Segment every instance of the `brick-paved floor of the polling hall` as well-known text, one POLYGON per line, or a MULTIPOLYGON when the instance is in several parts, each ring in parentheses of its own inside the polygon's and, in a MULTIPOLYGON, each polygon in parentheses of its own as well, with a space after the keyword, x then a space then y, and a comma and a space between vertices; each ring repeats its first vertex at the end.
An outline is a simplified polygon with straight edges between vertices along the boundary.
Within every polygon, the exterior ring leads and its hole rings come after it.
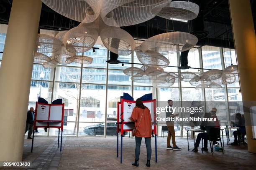
MULTIPOLYGON (((252 170, 255 169, 256 154, 248 153, 247 146, 227 146, 224 155, 215 151, 193 153, 187 150, 187 138, 176 137, 177 145, 181 151, 166 150, 166 138, 159 137, 158 162, 155 163, 155 143, 151 140, 152 160, 151 169, 157 170, 252 170)), ((119 140, 120 142, 120 140, 119 140)), ((117 158, 116 138, 102 137, 64 137, 63 151, 57 149, 57 138, 36 137, 33 153, 31 140, 25 139, 23 161, 31 162, 27 169, 33 170, 131 170, 148 169, 146 167, 146 146, 141 144, 139 167, 133 167, 135 139, 123 138, 123 163, 117 158)), ((189 140, 193 147, 193 140, 189 140)), ((208 147, 210 150, 210 146, 208 147)), ((119 153, 120 156, 120 153, 119 153)), ((7 168, 5 168, 7 169, 7 168)), ((24 168, 8 168, 24 169, 24 168)))

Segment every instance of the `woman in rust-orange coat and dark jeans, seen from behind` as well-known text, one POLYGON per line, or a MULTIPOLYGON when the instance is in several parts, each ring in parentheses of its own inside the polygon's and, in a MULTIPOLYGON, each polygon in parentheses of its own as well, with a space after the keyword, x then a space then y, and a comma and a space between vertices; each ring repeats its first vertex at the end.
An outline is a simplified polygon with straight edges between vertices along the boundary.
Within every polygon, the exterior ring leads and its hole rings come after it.
POLYGON ((141 140, 145 138, 147 148, 147 163, 146 166, 150 167, 151 159, 151 114, 148 107, 143 105, 140 98, 136 100, 136 106, 133 109, 130 120, 135 123, 135 130, 133 135, 135 136, 136 148, 135 148, 135 162, 133 166, 138 167, 138 160, 141 152, 141 140))

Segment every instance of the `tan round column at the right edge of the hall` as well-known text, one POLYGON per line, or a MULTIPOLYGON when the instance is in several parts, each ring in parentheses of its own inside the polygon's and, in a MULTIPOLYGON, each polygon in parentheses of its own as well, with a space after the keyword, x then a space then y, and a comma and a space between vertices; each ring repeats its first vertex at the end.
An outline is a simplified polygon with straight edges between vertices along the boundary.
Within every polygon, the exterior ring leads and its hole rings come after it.
MULTIPOLYGON (((256 37, 250 0, 229 0, 238 71, 243 102, 256 101, 256 37)), ((250 107, 246 104, 247 107, 250 107)), ((245 111, 246 108, 244 108, 245 111)), ((248 111, 247 111, 248 112, 248 111)), ((248 151, 256 153, 256 140, 251 140, 251 117, 245 114, 248 151)))

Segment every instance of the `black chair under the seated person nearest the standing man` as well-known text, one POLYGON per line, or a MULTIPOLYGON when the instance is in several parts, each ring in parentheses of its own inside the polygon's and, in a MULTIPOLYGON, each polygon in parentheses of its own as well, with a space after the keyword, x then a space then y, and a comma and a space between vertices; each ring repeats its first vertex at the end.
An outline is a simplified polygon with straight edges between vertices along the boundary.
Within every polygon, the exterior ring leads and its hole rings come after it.
MULTIPOLYGON (((207 139, 209 140, 209 143, 210 143, 211 153, 213 153, 213 141, 220 141, 221 150, 222 150, 222 153, 224 154, 222 141, 220 137, 220 128, 210 128, 210 135, 208 135, 207 139)), ((203 145, 203 140, 202 140, 202 145, 203 145)))

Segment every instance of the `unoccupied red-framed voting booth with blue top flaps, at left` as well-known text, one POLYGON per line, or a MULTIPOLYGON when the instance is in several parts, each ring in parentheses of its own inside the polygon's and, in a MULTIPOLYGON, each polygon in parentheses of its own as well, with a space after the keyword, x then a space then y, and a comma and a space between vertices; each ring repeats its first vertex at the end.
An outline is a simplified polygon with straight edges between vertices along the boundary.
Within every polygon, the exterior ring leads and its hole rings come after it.
MULTIPOLYGON (((45 100, 46 101, 46 100, 45 100)), ((60 151, 62 147, 62 132, 63 132, 63 120, 64 120, 64 103, 60 103, 62 100, 58 100, 52 102, 52 104, 48 104, 48 102, 36 102, 36 110, 35 110, 35 118, 33 125, 33 138, 32 138, 32 146, 31 153, 33 152, 33 143, 34 143, 34 133, 36 128, 58 128, 59 135, 61 130, 61 145, 60 151), (59 104, 53 104, 59 103, 59 104)), ((59 136, 58 135, 58 148, 59 148, 59 136)))

